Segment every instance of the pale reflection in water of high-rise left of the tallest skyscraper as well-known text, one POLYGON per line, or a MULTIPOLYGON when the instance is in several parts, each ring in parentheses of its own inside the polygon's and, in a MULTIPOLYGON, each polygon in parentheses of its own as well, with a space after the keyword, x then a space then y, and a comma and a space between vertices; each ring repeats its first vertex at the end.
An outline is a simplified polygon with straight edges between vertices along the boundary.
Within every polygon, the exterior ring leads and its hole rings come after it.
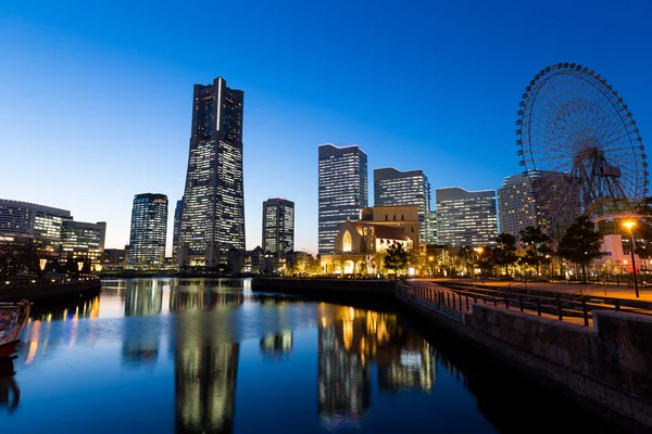
POLYGON ((125 317, 138 317, 138 324, 125 327, 123 362, 141 366, 159 357, 159 324, 141 317, 156 316, 163 307, 163 288, 155 280, 135 282, 124 292, 125 317))

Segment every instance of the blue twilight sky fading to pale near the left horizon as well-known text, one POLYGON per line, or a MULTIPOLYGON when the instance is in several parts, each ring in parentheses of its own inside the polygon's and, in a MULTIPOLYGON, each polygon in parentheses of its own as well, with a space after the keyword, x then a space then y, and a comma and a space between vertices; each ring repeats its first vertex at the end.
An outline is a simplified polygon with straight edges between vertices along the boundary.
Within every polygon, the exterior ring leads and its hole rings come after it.
POLYGON ((244 91, 247 247, 280 196, 316 252, 321 143, 359 144, 369 187, 393 166, 497 189, 521 171, 521 94, 557 62, 595 69, 652 135, 651 21, 644 0, 0 1, 0 197, 104 220, 106 247, 128 243, 136 193, 167 194, 172 226, 192 85, 223 76, 244 91))

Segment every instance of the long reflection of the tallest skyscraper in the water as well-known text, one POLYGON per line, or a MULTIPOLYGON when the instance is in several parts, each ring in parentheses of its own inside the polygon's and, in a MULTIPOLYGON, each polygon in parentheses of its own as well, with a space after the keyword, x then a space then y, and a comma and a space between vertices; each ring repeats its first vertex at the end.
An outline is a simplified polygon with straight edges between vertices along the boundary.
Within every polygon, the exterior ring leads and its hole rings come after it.
POLYGON ((179 433, 230 433, 234 425, 240 344, 233 317, 242 293, 175 290, 176 430, 179 433))

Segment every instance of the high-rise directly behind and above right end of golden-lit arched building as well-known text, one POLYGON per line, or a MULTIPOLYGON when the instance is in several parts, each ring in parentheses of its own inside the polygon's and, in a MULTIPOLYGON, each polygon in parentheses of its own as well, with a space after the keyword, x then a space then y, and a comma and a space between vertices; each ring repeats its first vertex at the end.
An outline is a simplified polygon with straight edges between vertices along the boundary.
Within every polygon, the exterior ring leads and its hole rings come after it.
POLYGON ((417 205, 419 242, 429 238, 430 182, 423 170, 374 169, 374 206, 417 205))

